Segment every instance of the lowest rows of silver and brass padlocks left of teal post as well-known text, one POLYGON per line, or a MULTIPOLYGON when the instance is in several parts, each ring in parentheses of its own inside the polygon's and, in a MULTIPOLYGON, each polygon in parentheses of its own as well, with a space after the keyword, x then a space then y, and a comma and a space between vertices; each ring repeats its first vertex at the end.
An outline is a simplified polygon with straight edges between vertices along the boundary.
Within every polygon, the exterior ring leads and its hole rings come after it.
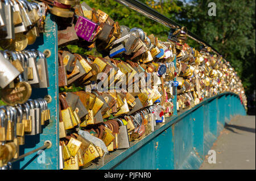
POLYGON ((14 107, 1 106, 0 146, 3 149, 0 149, 0 166, 13 158, 18 158, 19 145, 25 144, 24 135, 42 133, 43 125, 50 118, 48 104, 42 98, 30 99, 27 103, 17 104, 14 107))

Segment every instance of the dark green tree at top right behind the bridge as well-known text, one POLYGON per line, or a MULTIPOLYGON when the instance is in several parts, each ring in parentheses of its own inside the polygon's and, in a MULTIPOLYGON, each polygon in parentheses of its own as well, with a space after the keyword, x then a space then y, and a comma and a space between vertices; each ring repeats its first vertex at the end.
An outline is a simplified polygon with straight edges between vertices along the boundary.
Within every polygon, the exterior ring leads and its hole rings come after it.
MULTIPOLYGON (((230 62, 242 79, 246 93, 255 91, 255 1, 193 0, 177 2, 178 23, 207 41, 230 62), (209 16, 208 4, 216 4, 216 16, 209 16)), ((189 45, 199 44, 188 41, 189 45)))

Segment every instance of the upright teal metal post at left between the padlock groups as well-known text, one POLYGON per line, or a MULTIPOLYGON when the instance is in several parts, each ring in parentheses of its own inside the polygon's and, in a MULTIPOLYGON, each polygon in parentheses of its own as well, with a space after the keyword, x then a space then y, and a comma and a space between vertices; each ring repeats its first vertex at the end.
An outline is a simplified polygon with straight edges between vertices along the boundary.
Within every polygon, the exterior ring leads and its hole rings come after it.
POLYGON ((20 146, 20 155, 27 153, 43 146, 44 141, 50 140, 52 147, 44 151, 45 162, 43 154, 39 156, 38 153, 28 155, 27 157, 13 163, 14 169, 26 170, 50 170, 59 169, 59 87, 56 64, 57 60, 57 25, 52 21, 52 15, 48 14, 46 17, 46 31, 43 36, 36 39, 35 44, 30 45, 27 49, 38 49, 43 52, 46 49, 51 51, 51 56, 47 58, 48 72, 49 72, 49 87, 48 89, 32 89, 31 99, 44 98, 45 95, 50 95, 52 98, 48 108, 51 112, 51 119, 42 127, 43 133, 36 134, 35 136, 26 135, 26 144, 20 146))

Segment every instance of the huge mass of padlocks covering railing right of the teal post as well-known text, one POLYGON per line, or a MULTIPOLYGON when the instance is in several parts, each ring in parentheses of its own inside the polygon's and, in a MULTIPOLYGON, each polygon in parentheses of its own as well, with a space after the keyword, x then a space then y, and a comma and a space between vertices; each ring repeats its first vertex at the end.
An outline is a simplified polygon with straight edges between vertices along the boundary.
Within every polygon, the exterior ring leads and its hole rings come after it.
POLYGON ((189 47, 187 28, 172 30, 167 41, 160 41, 140 28, 120 26, 85 2, 71 2, 59 1, 64 5, 50 9, 61 22, 59 86, 66 91, 84 87, 59 95, 61 169, 86 168, 110 151, 129 148, 171 117, 174 103, 179 111, 230 91, 246 105, 234 69, 207 47, 189 47), (75 16, 68 18, 67 11, 75 16), (68 44, 96 48, 102 57, 72 53, 68 44))

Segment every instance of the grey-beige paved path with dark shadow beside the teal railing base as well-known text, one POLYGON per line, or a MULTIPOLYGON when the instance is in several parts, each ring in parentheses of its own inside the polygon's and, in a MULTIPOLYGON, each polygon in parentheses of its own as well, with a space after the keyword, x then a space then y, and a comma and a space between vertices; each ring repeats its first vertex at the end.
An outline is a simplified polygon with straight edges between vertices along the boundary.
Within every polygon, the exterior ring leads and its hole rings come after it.
POLYGON ((255 170, 255 116, 234 117, 225 125, 212 150, 216 151, 216 163, 208 163, 206 156, 201 170, 255 170))

